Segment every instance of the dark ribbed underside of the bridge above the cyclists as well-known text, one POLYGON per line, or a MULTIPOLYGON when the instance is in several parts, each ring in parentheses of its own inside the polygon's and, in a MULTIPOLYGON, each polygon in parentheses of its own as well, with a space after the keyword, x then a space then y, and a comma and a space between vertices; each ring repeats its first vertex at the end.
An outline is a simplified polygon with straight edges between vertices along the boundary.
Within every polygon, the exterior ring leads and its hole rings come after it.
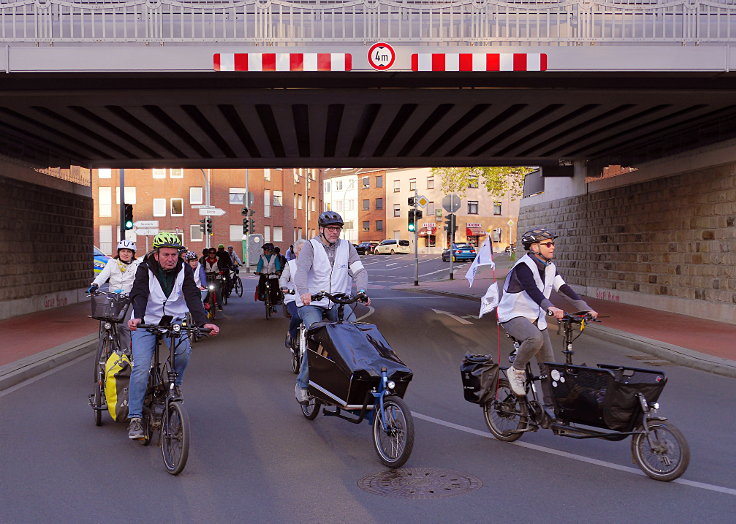
POLYGON ((735 136, 730 73, 0 75, 0 154, 42 166, 636 165, 735 136))

